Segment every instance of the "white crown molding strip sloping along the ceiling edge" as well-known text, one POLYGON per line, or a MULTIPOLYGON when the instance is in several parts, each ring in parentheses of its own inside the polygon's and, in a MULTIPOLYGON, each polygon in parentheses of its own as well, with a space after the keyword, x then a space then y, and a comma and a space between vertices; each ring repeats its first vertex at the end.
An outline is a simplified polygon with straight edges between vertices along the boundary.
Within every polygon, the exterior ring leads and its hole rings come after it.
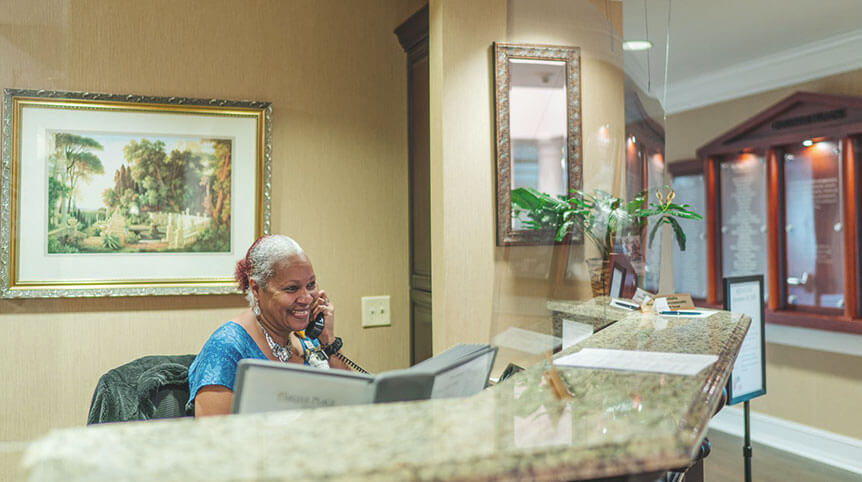
POLYGON ((862 29, 668 85, 668 114, 862 68, 862 29))

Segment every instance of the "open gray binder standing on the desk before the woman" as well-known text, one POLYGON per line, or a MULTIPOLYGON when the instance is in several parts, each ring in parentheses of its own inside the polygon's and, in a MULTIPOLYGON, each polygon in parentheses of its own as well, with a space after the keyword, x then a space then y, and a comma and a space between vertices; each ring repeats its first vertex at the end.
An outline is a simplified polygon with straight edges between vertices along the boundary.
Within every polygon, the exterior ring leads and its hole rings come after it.
POLYGON ((240 360, 233 413, 466 397, 488 382, 497 347, 459 344, 416 365, 370 375, 240 360))

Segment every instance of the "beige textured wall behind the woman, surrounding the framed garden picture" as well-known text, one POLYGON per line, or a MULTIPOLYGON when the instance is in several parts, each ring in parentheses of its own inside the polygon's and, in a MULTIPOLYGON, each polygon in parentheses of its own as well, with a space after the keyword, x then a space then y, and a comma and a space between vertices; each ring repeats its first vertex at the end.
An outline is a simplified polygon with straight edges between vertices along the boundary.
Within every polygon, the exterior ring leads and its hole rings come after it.
MULTIPOLYGON (((405 367, 406 57, 393 30, 422 4, 11 0, 0 85, 272 102, 273 231, 310 254, 347 353, 374 371, 405 367), (360 297, 381 294, 392 326, 363 330, 360 297)), ((197 352, 243 306, 239 296, 0 301, 0 443, 83 424, 102 373, 197 352)))

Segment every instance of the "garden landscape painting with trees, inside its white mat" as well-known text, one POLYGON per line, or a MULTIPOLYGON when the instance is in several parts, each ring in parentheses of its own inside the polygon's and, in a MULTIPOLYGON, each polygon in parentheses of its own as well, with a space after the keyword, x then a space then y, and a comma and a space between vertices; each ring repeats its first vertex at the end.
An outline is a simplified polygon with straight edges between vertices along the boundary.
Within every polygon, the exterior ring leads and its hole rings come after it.
POLYGON ((49 254, 230 251, 230 139, 47 140, 49 254))

